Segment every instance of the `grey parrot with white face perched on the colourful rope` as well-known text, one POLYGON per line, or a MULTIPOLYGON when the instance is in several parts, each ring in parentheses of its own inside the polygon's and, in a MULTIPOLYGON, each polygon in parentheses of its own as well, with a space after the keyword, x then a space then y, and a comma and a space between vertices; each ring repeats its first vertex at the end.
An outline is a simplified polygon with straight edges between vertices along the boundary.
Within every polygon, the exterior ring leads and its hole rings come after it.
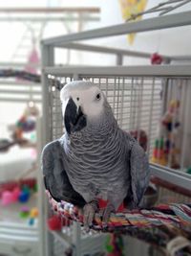
POLYGON ((65 134, 42 152, 46 189, 57 201, 84 207, 91 225, 97 198, 106 200, 103 222, 124 202, 138 207, 149 183, 148 158, 117 126, 103 92, 91 81, 72 81, 61 92, 65 134))

